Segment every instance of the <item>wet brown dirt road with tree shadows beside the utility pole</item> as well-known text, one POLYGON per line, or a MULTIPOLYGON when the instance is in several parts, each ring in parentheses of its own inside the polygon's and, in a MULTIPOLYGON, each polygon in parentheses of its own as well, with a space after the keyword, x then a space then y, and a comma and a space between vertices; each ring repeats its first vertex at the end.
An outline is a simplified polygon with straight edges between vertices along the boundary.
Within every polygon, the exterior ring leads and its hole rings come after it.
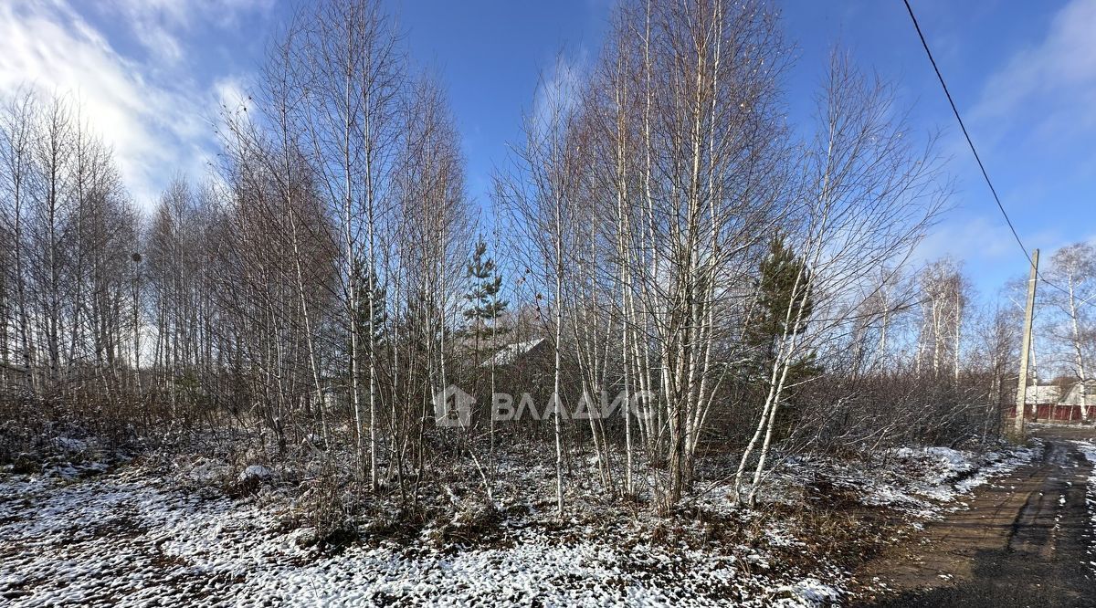
MULTIPOLYGON (((927 526, 857 573, 855 606, 1096 607, 1087 483, 1073 439, 1091 427, 1044 427, 1042 459, 980 487, 970 508, 927 526)), ((1096 505, 1094 505, 1096 507, 1096 505)))

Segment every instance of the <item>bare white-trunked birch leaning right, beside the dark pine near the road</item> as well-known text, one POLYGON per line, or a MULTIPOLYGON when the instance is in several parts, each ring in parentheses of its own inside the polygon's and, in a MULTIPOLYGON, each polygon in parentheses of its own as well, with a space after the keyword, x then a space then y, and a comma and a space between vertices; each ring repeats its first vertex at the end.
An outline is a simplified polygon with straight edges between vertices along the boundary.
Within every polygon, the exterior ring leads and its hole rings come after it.
MULTIPOLYGON (((895 116, 893 94, 834 54, 819 100, 819 126, 807 150, 804 181, 788 228, 804 261, 786 310, 784 335, 769 370, 768 394, 739 463, 735 485, 757 450, 746 501, 753 503, 772 446, 774 421, 791 364, 840 335, 877 269, 904 262, 940 210, 944 192, 932 146, 918 146, 895 116), (810 324, 802 316, 814 298, 810 324), (801 332, 809 326, 810 331, 801 332)), ((878 286, 877 286, 878 287, 878 286)))

